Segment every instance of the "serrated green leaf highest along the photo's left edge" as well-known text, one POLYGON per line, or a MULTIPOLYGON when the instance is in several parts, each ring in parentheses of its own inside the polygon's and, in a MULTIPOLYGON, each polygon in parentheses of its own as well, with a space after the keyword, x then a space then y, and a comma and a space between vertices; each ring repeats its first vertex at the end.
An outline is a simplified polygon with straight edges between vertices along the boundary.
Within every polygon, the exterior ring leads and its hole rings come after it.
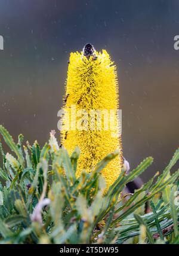
POLYGON ((23 156, 21 156, 20 151, 18 150, 17 145, 15 144, 13 138, 11 137, 10 133, 2 126, 0 125, 0 133, 4 138, 4 141, 8 145, 8 147, 11 148, 11 150, 16 153, 16 156, 21 164, 21 166, 24 165, 24 159, 23 156))

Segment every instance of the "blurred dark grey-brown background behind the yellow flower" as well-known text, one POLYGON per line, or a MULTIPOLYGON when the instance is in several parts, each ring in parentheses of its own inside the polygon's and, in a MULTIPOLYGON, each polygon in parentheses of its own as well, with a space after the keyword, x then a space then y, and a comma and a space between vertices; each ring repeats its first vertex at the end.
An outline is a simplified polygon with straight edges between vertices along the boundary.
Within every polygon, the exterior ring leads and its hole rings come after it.
POLYGON ((163 170, 178 147, 178 0, 0 0, 0 123, 42 145, 57 130, 67 60, 91 42, 118 66, 124 156, 163 170))

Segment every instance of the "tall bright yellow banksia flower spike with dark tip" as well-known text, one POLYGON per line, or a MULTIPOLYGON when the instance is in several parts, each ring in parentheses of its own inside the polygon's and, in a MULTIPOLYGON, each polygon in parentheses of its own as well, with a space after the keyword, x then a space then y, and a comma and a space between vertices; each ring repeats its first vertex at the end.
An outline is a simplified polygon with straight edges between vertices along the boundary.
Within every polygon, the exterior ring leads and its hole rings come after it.
POLYGON ((82 170, 91 172, 107 154, 119 149, 119 156, 102 170, 109 188, 121 172, 123 159, 116 66, 106 50, 97 52, 87 44, 81 53, 70 54, 64 103, 61 145, 69 154, 80 148, 77 176, 82 170))

